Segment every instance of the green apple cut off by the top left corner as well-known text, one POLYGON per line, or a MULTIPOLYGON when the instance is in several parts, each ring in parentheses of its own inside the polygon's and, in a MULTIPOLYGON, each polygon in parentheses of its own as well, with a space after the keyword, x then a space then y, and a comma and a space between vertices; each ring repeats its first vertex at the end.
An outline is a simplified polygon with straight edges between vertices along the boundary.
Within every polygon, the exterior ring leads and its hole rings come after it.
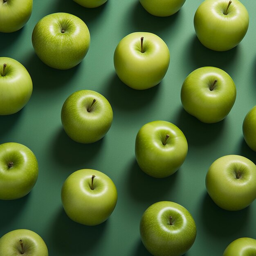
POLYGON ((33 0, 1 0, 0 32, 10 33, 21 29, 29 20, 33 0))

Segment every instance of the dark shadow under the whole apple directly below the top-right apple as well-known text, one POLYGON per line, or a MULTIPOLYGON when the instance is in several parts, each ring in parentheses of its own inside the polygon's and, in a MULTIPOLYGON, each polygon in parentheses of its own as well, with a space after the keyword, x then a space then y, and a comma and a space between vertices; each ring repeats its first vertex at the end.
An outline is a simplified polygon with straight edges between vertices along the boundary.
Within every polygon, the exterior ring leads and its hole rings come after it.
POLYGON ((202 144, 209 144, 220 136, 225 126, 225 120, 226 119, 214 124, 205 124, 189 115, 184 108, 181 108, 175 125, 182 130, 188 144, 199 147, 202 144))

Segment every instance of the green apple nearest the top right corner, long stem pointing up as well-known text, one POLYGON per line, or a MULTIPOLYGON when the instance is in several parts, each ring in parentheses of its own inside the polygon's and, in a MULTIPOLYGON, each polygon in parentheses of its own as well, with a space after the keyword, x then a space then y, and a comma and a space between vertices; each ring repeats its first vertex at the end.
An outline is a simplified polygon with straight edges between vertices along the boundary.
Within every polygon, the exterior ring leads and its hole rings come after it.
POLYGON ((195 33, 200 42, 215 51, 238 45, 249 26, 249 14, 238 0, 205 0, 194 16, 195 33))

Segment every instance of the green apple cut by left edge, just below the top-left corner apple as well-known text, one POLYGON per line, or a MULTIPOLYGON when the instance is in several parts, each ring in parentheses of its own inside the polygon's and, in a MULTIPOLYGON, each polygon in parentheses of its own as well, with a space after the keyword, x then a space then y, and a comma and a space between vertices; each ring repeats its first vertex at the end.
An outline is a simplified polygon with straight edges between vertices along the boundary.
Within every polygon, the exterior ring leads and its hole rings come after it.
POLYGON ((0 57, 0 115, 11 115, 29 101, 33 84, 26 68, 13 58, 0 57))

